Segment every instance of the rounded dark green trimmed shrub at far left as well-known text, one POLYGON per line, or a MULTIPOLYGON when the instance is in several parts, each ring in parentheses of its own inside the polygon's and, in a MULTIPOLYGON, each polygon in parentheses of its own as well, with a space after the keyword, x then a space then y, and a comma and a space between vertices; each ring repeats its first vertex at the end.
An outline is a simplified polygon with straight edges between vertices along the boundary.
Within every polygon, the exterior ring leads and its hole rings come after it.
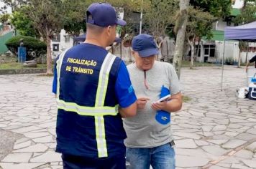
POLYGON ((46 54, 46 44, 38 39, 27 36, 17 36, 9 39, 5 45, 13 53, 18 55, 19 39, 23 39, 24 47, 27 50, 27 60, 32 60, 46 54))

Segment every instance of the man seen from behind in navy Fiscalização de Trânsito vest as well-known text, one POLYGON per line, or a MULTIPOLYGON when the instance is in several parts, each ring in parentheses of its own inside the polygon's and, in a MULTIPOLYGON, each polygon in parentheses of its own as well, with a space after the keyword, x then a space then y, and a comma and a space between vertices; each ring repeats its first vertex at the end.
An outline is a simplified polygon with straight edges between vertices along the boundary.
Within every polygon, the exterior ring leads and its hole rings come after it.
POLYGON ((110 4, 86 11, 86 41, 64 51, 52 85, 57 117, 57 148, 63 168, 125 168, 122 117, 136 115, 136 96, 121 59, 106 51, 116 38, 117 19, 110 4))

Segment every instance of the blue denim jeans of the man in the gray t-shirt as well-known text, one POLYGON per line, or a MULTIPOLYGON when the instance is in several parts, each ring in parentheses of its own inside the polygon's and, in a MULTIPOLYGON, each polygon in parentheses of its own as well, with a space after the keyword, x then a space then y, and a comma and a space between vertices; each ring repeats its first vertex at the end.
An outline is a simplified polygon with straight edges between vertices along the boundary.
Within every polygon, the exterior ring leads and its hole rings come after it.
POLYGON ((170 143, 155 148, 127 148, 127 169, 173 169, 175 151, 170 143))

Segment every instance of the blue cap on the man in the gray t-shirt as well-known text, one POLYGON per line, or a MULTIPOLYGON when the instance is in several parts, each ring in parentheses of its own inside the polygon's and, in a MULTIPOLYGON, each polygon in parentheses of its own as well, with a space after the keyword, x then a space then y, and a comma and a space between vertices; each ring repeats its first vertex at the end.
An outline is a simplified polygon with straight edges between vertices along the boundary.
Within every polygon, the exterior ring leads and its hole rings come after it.
POLYGON ((154 38, 149 34, 139 34, 132 39, 132 49, 139 53, 140 57, 150 57, 159 54, 154 38))

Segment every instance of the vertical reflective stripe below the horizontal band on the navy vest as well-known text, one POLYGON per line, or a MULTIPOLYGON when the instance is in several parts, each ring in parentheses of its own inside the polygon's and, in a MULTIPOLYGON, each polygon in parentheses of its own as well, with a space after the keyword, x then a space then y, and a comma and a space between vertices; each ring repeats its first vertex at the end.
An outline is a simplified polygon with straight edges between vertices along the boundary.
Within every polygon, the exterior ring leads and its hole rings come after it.
POLYGON ((98 157, 104 158, 108 156, 106 149, 104 116, 95 116, 96 141, 98 148, 98 157))

